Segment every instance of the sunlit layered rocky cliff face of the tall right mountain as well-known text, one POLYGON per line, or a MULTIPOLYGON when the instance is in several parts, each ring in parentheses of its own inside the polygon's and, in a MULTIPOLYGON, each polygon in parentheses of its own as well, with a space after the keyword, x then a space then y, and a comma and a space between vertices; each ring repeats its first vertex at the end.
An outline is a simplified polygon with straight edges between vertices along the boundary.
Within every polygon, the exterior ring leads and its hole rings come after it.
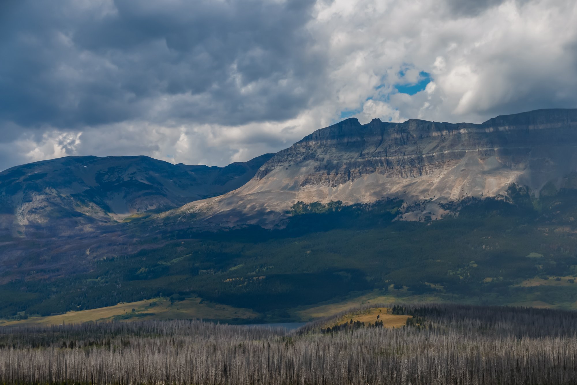
MULTIPOLYGON (((385 197, 438 203, 495 196, 512 183, 535 193, 577 170, 577 110, 537 110, 482 124, 357 119, 317 130, 266 162, 226 195, 160 215, 193 226, 272 227, 297 201, 346 204, 385 197), (191 218, 192 218, 191 216, 191 218)), ((410 218, 410 215, 407 215, 410 218)))

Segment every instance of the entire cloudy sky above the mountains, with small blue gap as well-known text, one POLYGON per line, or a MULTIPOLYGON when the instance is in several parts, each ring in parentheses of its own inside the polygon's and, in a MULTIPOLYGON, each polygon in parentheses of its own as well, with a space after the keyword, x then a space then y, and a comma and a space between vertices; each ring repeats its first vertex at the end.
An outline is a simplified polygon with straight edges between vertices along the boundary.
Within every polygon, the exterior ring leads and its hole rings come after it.
POLYGON ((0 1, 0 170, 224 166, 344 118, 577 107, 574 0, 0 1))

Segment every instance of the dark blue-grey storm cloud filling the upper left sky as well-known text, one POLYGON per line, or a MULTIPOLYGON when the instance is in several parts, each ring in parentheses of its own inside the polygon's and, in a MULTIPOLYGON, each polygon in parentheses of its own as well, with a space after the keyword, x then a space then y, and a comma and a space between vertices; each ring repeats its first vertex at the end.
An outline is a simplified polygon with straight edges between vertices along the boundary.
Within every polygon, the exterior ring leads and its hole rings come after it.
POLYGON ((10 2, 0 119, 74 128, 127 119, 294 117, 322 77, 312 1, 10 2))

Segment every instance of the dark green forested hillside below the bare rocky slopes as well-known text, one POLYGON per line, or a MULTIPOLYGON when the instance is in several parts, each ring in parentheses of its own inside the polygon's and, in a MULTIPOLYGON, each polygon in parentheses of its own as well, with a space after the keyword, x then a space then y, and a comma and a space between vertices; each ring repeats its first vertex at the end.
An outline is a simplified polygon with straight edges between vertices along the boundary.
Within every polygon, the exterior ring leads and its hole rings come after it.
MULTIPOLYGON (((464 199, 443 219, 398 219, 401 200, 296 204, 284 229, 198 233, 126 224, 69 264, 22 261, 3 272, 2 317, 50 315, 155 297, 198 296, 264 320, 377 290, 486 304, 572 308, 577 301, 577 190, 520 186, 464 199), (134 252, 126 252, 126 251, 134 252), (28 263, 28 265, 27 265, 28 263), (19 315, 18 315, 19 313, 19 315)), ((40 257, 41 258, 41 257, 40 257)), ((56 261, 56 257, 54 257, 56 261)))

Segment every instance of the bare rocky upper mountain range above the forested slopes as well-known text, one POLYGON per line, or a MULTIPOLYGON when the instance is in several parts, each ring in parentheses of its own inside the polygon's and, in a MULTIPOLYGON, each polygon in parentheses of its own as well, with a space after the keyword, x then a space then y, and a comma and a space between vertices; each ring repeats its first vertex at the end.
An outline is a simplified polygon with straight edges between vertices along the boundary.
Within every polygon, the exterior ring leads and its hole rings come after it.
POLYGON ((283 226, 299 201, 389 197, 425 202, 402 219, 425 212, 435 219, 447 214, 447 201, 500 195, 511 184, 537 195, 548 183, 561 186, 577 171, 576 129, 577 109, 499 115, 481 124, 373 119, 362 125, 348 118, 276 154, 226 167, 146 156, 46 160, 0 173, 0 229, 47 231, 59 222, 53 229, 59 234, 92 231, 144 211, 159 213, 151 217, 158 225, 273 228, 283 226))

